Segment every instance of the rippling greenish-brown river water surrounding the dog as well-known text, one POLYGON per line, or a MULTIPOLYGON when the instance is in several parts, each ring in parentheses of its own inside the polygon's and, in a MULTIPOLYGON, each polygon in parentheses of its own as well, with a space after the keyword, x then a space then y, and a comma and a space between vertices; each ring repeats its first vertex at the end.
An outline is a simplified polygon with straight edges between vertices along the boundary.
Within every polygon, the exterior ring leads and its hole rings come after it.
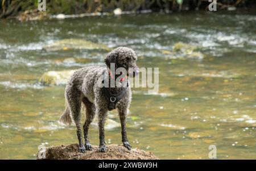
MULTIPOLYGON (((105 51, 42 51, 75 38, 134 48, 141 67, 159 67, 159 93, 134 89, 127 119, 131 145, 160 159, 256 159, 256 28, 249 14, 144 14, 0 24, 0 159, 35 159, 38 145, 76 143, 75 127, 57 122, 64 86, 42 86, 48 70, 102 65, 105 51), (201 60, 172 53, 177 42, 201 60), (72 62, 65 59, 73 58, 72 62)), ((117 112, 110 118, 119 123, 117 112)), ((119 127, 106 143, 121 143, 119 127)), ((98 144, 95 124, 90 141, 98 144)))

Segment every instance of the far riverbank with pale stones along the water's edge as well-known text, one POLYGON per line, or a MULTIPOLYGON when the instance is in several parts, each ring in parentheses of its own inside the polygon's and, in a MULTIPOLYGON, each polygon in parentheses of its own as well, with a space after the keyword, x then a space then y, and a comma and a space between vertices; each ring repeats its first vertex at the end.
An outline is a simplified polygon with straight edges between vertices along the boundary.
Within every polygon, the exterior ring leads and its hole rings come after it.
MULTIPOLYGON (((38 10, 38 1, 0 0, 0 18, 39 20, 44 18, 78 18, 98 15, 121 15, 148 12, 209 11, 210 2, 196 1, 46 1, 45 10, 38 10)), ((256 2, 251 0, 229 0, 217 2, 217 11, 254 10, 256 2)), ((43 7, 43 6, 41 6, 43 7)))

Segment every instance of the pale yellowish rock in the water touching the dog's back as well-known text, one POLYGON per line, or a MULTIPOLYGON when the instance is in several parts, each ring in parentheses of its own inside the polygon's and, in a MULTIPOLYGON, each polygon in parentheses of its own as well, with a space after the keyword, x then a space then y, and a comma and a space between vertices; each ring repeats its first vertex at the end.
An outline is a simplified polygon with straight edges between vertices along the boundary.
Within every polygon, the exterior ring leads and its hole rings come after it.
POLYGON ((48 71, 43 74, 39 79, 43 85, 64 85, 67 84, 68 79, 75 72, 75 70, 63 70, 63 71, 48 71))

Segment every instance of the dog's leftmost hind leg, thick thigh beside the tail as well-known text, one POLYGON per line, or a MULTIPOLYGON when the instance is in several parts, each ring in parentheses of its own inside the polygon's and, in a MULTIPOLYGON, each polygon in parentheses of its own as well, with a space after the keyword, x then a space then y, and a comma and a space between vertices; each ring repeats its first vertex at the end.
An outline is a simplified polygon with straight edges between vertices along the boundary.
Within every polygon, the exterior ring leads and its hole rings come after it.
POLYGON ((82 143, 82 132, 80 126, 81 119, 81 91, 73 86, 67 86, 66 98, 69 105, 69 109, 72 114, 72 118, 76 124, 77 138, 79 139, 79 151, 85 153, 84 143, 82 143))

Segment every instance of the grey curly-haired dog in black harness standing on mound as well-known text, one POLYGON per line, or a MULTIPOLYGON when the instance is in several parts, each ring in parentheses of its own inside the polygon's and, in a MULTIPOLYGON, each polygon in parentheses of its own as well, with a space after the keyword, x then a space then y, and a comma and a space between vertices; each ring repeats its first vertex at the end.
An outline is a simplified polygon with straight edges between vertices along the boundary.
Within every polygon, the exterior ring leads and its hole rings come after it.
POLYGON ((106 151, 104 123, 108 110, 115 108, 118 110, 121 122, 122 143, 127 149, 131 149, 126 136, 126 116, 131 102, 131 88, 126 77, 119 79, 122 72, 121 74, 113 75, 113 71, 110 70, 110 64, 114 64, 115 69, 124 68, 127 76, 134 77, 139 73, 136 65, 137 56, 131 48, 118 47, 109 52, 104 61, 106 67, 88 66, 77 70, 72 74, 65 90, 66 106, 60 121, 67 125, 70 125, 72 121, 75 122, 79 139, 79 151, 82 153, 85 153, 85 150, 92 149, 88 139, 88 129, 96 114, 98 115, 100 132, 99 150, 100 152, 106 151), (126 81, 127 86, 110 87, 110 82, 113 80, 116 84, 123 84, 126 81), (102 84, 104 84, 103 87, 102 84), (86 108, 86 120, 84 123, 85 144, 82 143, 80 126, 81 103, 84 103, 86 108))

